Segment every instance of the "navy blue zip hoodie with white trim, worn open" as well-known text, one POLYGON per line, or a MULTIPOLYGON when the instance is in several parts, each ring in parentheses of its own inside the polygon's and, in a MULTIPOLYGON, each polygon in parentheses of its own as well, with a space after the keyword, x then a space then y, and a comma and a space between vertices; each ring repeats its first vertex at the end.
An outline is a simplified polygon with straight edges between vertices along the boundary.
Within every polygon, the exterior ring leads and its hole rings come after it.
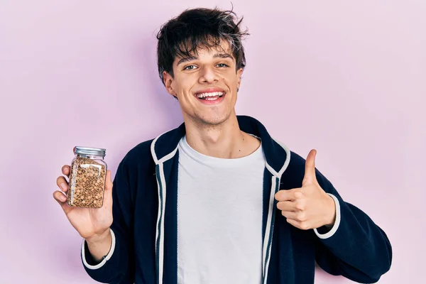
MULTIPOLYGON (((305 159, 275 141, 249 116, 237 116, 241 131, 261 138, 263 174, 263 284, 314 283, 315 262, 332 275, 375 283, 391 267, 385 232, 361 209, 344 202, 316 170, 322 189, 333 197, 336 221, 329 229, 301 230, 286 222, 275 193, 301 187, 305 159)), ((111 251, 94 263, 87 244, 82 261, 102 283, 178 282, 178 143, 185 124, 140 143, 119 164, 113 182, 111 251)), ((241 222, 249 222, 247 220, 241 222)))

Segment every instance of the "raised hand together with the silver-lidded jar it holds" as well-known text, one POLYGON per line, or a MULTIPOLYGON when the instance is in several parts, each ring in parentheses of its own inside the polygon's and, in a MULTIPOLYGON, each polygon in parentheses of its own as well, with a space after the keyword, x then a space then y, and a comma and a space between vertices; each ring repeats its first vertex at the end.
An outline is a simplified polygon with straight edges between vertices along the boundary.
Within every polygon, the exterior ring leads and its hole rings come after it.
POLYGON ((75 147, 71 166, 64 165, 57 179, 60 190, 53 197, 82 238, 97 242, 110 238, 112 224, 111 171, 104 162, 105 150, 75 147), (66 196, 65 196, 66 195, 66 196))

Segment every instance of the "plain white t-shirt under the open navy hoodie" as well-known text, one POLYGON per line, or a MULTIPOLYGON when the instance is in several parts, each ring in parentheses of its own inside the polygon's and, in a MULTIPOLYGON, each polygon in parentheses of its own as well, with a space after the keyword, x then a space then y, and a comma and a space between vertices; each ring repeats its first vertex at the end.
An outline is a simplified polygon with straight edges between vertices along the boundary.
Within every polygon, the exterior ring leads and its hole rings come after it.
POLYGON ((214 158, 184 136, 178 149, 178 283, 261 283, 262 146, 214 158))

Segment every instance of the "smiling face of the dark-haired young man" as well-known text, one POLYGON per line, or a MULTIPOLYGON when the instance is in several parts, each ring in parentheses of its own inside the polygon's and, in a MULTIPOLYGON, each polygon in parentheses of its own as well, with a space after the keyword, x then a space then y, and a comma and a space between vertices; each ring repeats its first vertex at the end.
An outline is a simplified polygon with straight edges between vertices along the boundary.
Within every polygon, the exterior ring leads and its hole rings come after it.
POLYGON ((200 48, 190 58, 175 58, 173 72, 174 78, 164 72, 165 87, 178 98, 185 121, 217 125, 235 115, 236 92, 243 70, 236 70, 228 43, 200 48))

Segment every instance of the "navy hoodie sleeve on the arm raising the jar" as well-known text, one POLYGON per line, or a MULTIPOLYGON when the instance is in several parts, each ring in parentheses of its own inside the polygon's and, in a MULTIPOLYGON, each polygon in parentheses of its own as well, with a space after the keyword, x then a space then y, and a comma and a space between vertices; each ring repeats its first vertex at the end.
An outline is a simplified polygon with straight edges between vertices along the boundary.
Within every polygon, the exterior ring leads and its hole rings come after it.
POLYGON ((128 173, 122 161, 117 169, 112 187, 113 223, 111 225, 112 244, 107 256, 100 263, 94 260, 82 243, 82 263, 90 277, 101 283, 133 283, 134 259, 131 251, 131 192, 128 173))

